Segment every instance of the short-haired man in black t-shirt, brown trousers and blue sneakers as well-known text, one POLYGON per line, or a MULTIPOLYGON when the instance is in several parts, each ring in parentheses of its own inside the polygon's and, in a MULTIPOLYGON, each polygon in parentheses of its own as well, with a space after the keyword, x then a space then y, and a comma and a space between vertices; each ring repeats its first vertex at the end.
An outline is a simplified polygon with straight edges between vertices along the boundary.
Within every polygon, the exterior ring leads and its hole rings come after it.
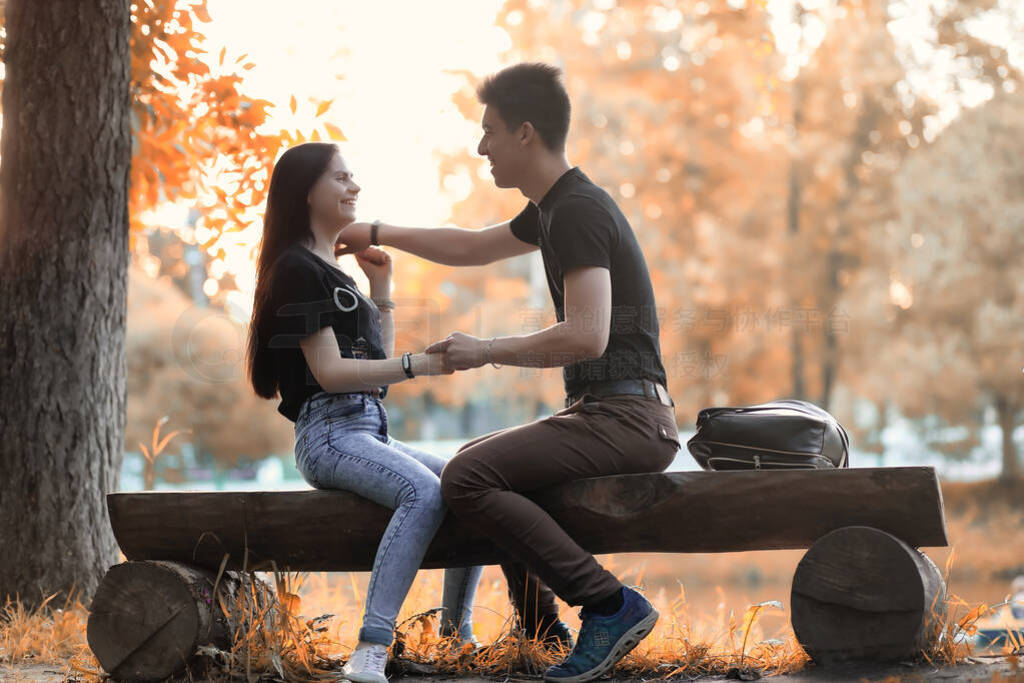
POLYGON ((338 253, 381 244, 447 265, 481 265, 541 250, 555 325, 489 340, 453 332, 427 350, 445 353, 456 370, 563 368, 565 408, 463 445, 441 474, 441 490, 453 513, 514 558, 502 568, 527 630, 567 642, 554 595, 583 605, 571 654, 545 674, 577 683, 609 671, 650 633, 657 612, 525 494, 584 477, 663 471, 679 434, 646 262, 614 201, 566 160, 570 105, 560 76, 549 65, 520 63, 477 90, 484 104, 477 151, 489 160, 495 184, 529 200, 515 218, 480 230, 353 223, 342 230, 338 253))

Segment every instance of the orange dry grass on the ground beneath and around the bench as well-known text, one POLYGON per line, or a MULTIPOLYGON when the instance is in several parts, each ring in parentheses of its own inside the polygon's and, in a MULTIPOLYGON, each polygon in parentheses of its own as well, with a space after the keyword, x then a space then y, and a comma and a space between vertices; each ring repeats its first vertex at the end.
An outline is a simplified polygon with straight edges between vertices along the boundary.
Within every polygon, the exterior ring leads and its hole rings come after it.
MULTIPOLYGON (((950 578, 952 555, 945 566, 950 578)), ((393 659, 395 673, 443 673, 477 676, 531 676, 554 664, 559 653, 545 650, 538 642, 512 632, 511 610, 504 585, 497 571, 488 580, 485 574, 477 594, 475 627, 478 637, 490 647, 476 652, 460 650, 451 638, 437 635, 436 609, 440 596, 440 572, 425 571, 418 579, 407 600, 403 614, 409 614, 398 628, 393 646, 400 657, 393 659)), ((342 665, 349 648, 354 645, 354 630, 361 614, 361 587, 352 575, 304 572, 251 573, 268 579, 255 582, 254 587, 266 586, 270 600, 247 600, 222 608, 250 609, 246 620, 259 628, 237 633, 230 650, 207 647, 209 655, 204 668, 189 672, 195 680, 251 680, 259 674, 287 681, 323 680, 342 665), (348 579, 349 581, 344 581, 348 579), (311 580, 311 581, 310 581, 311 580), (305 582, 310 585, 304 586, 305 582), (303 610, 302 605, 307 609, 303 610), (307 618, 301 611, 331 603, 338 613, 325 612, 307 618), (274 606, 276 604, 276 606, 274 606)), ((641 578, 642 579, 642 578, 641 578)), ((254 588, 254 590, 259 590, 254 588)), ((717 589, 721 596, 724 592, 717 589)), ((781 610, 780 601, 751 605, 738 615, 724 604, 714 613, 691 612, 686 591, 680 584, 678 592, 668 594, 660 589, 648 596, 662 618, 654 632, 615 668, 617 677, 670 678, 684 675, 721 675, 729 670, 737 675, 755 670, 763 676, 801 670, 808 661, 792 630, 785 626, 777 633, 766 634, 761 624, 765 610, 781 610)), ((938 628, 936 645, 921 657, 937 666, 966 661, 973 655, 967 636, 973 634, 976 622, 994 606, 971 605, 951 592, 947 598, 947 614, 938 628)), ((315 612, 316 610, 313 610, 315 612)), ((310 612, 312 613, 312 612, 310 612)), ((4 664, 48 663, 63 667, 65 675, 82 681, 103 678, 98 663, 85 642, 87 610, 78 600, 54 608, 48 602, 33 611, 25 610, 19 602, 4 606, 0 626, 0 660, 4 664)), ((566 621, 578 624, 566 615, 566 621)), ((1016 643, 1018 647, 1021 643, 1016 643)), ((1008 645, 1006 653, 1013 648, 1008 645)))

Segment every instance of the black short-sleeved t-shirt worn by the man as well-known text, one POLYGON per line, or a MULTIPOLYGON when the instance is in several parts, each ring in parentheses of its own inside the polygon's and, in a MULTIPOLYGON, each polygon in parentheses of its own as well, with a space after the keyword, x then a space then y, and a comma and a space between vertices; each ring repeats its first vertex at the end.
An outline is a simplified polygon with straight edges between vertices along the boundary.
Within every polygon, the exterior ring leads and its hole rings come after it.
POLYGON ((566 395, 590 382, 649 379, 666 385, 654 289, 647 262, 626 216, 611 197, 579 167, 562 174, 538 204, 512 219, 512 233, 538 245, 544 259, 555 317, 565 319, 562 275, 582 265, 608 268, 611 327, 599 358, 562 369, 566 395))

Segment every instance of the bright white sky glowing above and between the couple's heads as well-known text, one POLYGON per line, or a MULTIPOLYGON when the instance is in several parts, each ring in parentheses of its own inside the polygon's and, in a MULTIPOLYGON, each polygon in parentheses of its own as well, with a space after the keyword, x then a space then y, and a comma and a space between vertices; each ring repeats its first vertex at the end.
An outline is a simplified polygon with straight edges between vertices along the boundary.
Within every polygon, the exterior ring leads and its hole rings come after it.
POLYGON ((362 186, 361 215, 431 223, 447 217, 452 200, 437 191, 432 151, 478 141, 478 126, 451 101, 461 81, 445 71, 501 67, 509 39, 494 26, 500 5, 210 0, 213 24, 204 31, 212 52, 226 45, 256 62, 245 91, 284 104, 273 127, 312 122, 311 105, 292 116, 292 94, 334 99, 326 116, 349 140, 340 145, 362 186))

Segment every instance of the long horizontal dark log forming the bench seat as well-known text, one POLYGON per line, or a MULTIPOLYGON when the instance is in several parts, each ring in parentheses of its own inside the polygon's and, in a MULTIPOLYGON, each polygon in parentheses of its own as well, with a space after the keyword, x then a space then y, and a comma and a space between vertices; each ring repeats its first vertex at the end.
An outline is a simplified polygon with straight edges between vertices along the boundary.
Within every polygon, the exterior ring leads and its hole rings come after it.
MULTIPOLYGON (((945 546, 932 467, 671 472, 580 479, 531 495, 592 553, 809 548, 841 526, 945 546)), ((215 568, 369 571, 391 510, 341 490, 109 494, 125 557, 215 568), (248 555, 247 555, 248 553, 248 555)), ((423 566, 495 564, 502 553, 450 515, 423 566)))

